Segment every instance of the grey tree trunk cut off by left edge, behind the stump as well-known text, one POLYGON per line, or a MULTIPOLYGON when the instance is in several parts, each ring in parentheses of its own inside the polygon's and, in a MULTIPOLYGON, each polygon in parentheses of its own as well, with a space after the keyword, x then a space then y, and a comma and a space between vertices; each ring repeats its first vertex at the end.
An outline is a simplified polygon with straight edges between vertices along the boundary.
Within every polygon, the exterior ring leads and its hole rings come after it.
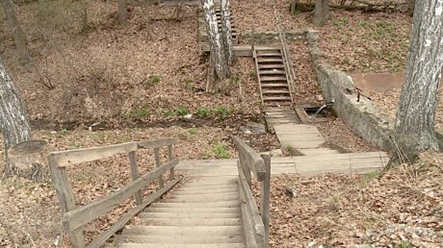
POLYGON ((9 163, 8 150, 12 145, 31 139, 26 111, 20 94, 13 80, 6 73, 0 59, 0 130, 3 134, 6 157, 4 173, 9 176, 20 174, 13 164, 9 163))

